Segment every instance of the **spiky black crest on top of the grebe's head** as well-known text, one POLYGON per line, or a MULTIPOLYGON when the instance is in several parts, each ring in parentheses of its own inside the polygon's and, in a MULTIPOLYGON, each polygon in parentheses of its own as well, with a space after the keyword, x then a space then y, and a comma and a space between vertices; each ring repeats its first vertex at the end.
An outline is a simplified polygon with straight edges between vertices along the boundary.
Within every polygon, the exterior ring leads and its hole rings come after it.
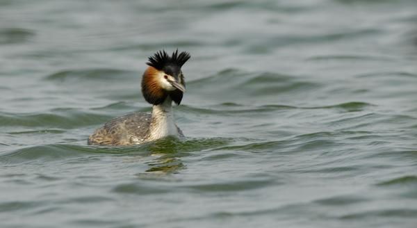
POLYGON ((182 51, 178 54, 177 51, 172 52, 172 56, 169 56, 164 50, 157 51, 154 56, 148 58, 147 65, 155 67, 158 70, 163 70, 167 65, 175 65, 181 68, 188 59, 190 59, 190 54, 187 51, 182 51))

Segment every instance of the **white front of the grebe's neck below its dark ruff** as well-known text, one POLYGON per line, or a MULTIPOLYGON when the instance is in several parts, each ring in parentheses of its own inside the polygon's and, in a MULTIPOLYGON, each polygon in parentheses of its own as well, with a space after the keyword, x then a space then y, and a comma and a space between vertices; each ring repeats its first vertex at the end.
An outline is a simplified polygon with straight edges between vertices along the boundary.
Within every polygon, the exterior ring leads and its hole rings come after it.
POLYGON ((149 127, 149 140, 166 136, 179 136, 172 113, 172 99, 167 97, 162 104, 152 107, 152 121, 149 127))

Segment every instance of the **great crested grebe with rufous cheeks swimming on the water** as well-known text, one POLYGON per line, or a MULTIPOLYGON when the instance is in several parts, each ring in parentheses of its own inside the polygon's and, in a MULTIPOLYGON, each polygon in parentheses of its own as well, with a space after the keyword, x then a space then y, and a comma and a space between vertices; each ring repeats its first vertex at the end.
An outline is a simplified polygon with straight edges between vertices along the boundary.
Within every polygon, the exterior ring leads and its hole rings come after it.
POLYGON ((179 105, 186 92, 181 67, 190 59, 187 51, 156 51, 147 61, 142 75, 142 95, 152 104, 152 113, 131 113, 106 122, 88 137, 88 145, 138 145, 167 136, 183 138, 174 123, 172 102, 179 105))

